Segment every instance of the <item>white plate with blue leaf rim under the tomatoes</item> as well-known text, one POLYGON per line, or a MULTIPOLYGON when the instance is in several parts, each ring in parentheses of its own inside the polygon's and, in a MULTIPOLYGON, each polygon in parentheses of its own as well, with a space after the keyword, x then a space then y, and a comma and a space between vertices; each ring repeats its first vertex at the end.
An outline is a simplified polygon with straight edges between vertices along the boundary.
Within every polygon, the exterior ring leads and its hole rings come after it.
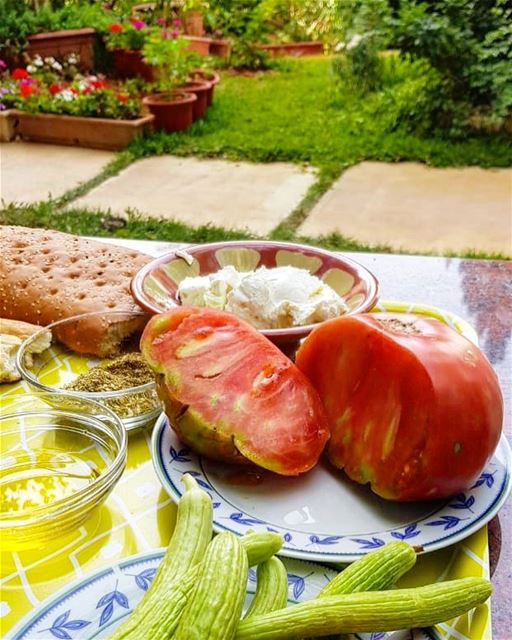
POLYGON ((263 471, 258 484, 246 486, 232 465, 201 458, 185 447, 163 414, 153 430, 152 457, 174 500, 183 493, 184 473, 208 491, 216 531, 276 531, 285 541, 280 555, 320 562, 351 562, 393 540, 407 540, 425 551, 446 547, 489 522, 512 484, 512 456, 504 436, 472 487, 435 502, 388 502, 327 463, 292 478, 263 471))

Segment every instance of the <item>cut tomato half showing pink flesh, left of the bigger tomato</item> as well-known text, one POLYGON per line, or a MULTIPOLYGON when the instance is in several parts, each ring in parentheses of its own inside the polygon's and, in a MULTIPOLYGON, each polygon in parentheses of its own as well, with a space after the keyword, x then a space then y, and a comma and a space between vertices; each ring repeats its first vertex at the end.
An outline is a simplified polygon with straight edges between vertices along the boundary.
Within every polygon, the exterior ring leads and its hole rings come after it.
POLYGON ((317 392, 243 320, 177 307, 150 320, 141 349, 172 427, 197 452, 283 475, 316 464, 328 438, 317 392))

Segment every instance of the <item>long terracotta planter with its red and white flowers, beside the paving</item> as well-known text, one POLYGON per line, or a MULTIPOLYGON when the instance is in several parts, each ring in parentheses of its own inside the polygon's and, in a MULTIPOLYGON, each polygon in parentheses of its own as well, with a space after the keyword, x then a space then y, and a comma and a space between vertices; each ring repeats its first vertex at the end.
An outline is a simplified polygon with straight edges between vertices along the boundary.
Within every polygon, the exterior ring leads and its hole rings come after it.
POLYGON ((153 116, 140 115, 130 85, 109 86, 102 77, 73 73, 74 65, 65 61, 60 69, 33 62, 10 74, 23 139, 115 150, 151 127, 153 116))

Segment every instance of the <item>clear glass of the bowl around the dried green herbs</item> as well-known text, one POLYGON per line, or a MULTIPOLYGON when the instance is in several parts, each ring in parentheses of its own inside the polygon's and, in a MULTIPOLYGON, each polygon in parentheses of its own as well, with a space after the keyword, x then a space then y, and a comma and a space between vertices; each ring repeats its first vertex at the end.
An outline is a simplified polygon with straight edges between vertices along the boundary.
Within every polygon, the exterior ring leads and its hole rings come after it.
MULTIPOLYGON (((140 316, 140 322, 130 338, 121 344, 118 355, 138 352, 140 334, 145 321, 149 319, 146 313, 132 311, 85 313, 54 322, 21 344, 16 365, 22 378, 33 391, 64 392, 77 399, 97 400, 111 409, 128 431, 153 424, 162 411, 154 380, 127 386, 117 391, 75 391, 65 388, 79 375, 87 373, 100 364, 105 365, 112 361, 112 358, 99 358, 87 353, 79 353, 77 349, 82 350, 80 336, 87 336, 88 333, 90 335, 90 332, 97 329, 98 323, 120 321, 126 318, 127 313, 129 316, 140 316), (49 335, 50 345, 42 352, 30 355, 34 344, 44 342, 44 336, 48 332, 51 334, 49 335), (62 340, 73 344, 73 348, 66 346, 62 340)), ((87 340, 84 342, 86 343, 87 340)), ((86 350, 86 345, 83 350, 86 350)))

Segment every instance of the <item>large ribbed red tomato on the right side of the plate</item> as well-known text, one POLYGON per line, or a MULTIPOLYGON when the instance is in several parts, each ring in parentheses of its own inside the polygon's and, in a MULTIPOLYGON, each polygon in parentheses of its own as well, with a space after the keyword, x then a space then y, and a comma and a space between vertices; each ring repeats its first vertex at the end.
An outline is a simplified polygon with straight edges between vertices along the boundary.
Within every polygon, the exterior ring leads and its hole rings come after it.
POLYGON ((434 318, 336 318, 312 331, 296 364, 326 408, 330 461, 384 498, 464 491, 500 438, 496 374, 477 347, 434 318))

